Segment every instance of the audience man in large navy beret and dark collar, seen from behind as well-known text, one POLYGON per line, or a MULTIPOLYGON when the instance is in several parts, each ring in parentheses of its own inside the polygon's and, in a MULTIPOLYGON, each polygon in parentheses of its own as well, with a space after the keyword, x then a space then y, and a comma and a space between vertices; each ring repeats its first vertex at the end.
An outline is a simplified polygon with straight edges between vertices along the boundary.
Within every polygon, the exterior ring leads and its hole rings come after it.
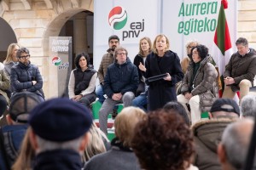
POLYGON ((29 116, 33 169, 80 170, 91 123, 90 111, 69 99, 49 99, 35 107, 29 116))

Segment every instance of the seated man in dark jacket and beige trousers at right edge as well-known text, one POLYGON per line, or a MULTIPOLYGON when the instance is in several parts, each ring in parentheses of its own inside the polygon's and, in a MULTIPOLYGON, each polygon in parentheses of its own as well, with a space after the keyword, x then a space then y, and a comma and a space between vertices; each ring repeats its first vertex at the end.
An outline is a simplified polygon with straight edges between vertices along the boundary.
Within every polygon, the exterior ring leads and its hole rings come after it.
POLYGON ((256 75, 256 51, 248 47, 247 39, 236 40, 237 52, 231 55, 224 71, 224 93, 222 98, 233 99, 240 91, 241 99, 249 93, 256 75))

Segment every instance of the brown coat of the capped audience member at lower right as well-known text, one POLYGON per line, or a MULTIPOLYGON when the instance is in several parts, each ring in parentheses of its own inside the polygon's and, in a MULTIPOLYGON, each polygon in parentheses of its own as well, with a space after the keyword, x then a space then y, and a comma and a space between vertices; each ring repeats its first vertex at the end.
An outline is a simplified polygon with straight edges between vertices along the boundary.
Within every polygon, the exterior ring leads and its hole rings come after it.
POLYGON ((195 141, 195 163, 200 170, 221 170, 217 148, 225 127, 236 119, 220 118, 197 122, 192 127, 195 141))

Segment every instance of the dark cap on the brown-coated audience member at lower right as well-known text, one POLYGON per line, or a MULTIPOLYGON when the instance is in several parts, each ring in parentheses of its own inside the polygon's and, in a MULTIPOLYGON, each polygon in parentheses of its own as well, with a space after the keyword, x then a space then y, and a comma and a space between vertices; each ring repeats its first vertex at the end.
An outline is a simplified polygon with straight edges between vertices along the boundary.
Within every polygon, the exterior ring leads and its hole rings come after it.
POLYGON ((217 99, 212 104, 212 108, 210 112, 215 111, 226 111, 226 112, 234 112, 238 116, 240 116, 239 106, 236 104, 236 101, 233 99, 217 99))

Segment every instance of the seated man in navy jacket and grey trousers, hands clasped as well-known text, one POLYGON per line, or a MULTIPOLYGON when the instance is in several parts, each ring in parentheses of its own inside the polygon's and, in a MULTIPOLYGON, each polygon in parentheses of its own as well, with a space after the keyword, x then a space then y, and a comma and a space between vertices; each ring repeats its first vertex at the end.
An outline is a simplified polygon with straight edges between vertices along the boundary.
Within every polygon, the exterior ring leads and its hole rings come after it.
POLYGON ((124 103, 124 107, 131 106, 131 101, 135 97, 138 87, 139 77, 137 66, 127 58, 127 50, 123 47, 115 48, 115 62, 108 66, 108 71, 104 79, 105 99, 99 111, 100 128, 103 133, 108 133, 108 114, 113 110, 113 106, 124 103))

